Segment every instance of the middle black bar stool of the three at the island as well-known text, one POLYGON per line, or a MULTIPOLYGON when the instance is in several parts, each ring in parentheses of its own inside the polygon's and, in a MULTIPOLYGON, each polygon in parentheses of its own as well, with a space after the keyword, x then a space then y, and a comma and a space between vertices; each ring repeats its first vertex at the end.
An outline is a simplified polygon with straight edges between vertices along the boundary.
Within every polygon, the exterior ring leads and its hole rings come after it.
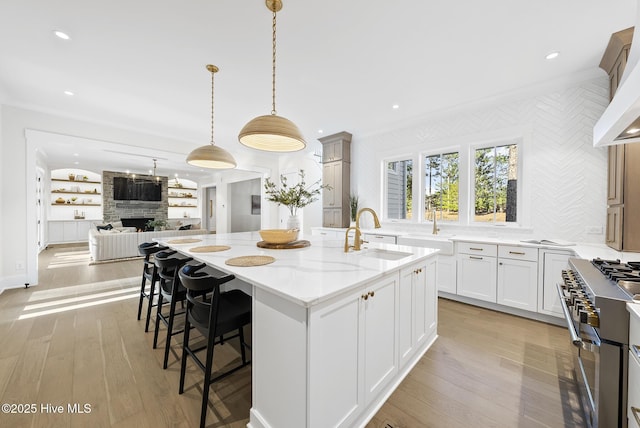
POLYGON ((183 302, 186 298, 187 290, 180 283, 178 278, 178 271, 187 262, 193 260, 191 257, 173 257, 176 252, 160 251, 155 254, 154 260, 158 270, 159 288, 158 288, 158 307, 156 311, 156 326, 153 333, 153 349, 158 344, 158 331, 160 328, 160 321, 167 326, 167 340, 164 347, 164 361, 162 368, 167 368, 169 361, 169 351, 171 350, 171 337, 182 333, 182 330, 173 331, 173 322, 176 315, 180 315, 184 312, 176 313, 176 304, 183 302), (169 304, 169 313, 162 313, 162 306, 169 304))

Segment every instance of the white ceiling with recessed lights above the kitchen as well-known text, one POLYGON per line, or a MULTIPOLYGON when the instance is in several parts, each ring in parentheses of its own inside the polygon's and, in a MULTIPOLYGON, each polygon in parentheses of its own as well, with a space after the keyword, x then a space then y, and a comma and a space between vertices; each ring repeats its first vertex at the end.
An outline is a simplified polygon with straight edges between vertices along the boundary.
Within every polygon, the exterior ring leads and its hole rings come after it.
MULTIPOLYGON (((310 150, 319 129, 357 138, 595 75, 611 33, 636 16, 636 0, 283 3, 276 107, 313 142, 310 150), (560 56, 545 60, 555 50, 560 56)), ((159 156, 191 168, 186 154, 210 140, 208 63, 220 68, 216 144, 240 157, 239 130, 271 111, 271 12, 262 0, 0 1, 0 101, 187 142, 171 154, 132 150, 134 164, 159 156)), ((47 154, 68 161, 68 150, 50 146, 47 154)), ((102 152, 100 161, 106 169, 123 156, 102 152)))

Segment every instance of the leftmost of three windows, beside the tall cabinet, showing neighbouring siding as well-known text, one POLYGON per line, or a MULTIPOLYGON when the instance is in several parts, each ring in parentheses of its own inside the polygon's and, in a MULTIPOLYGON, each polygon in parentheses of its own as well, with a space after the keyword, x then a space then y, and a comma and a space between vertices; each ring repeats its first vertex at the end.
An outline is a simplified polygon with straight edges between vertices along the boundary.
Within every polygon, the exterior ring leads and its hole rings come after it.
POLYGON ((411 159, 387 162, 387 218, 408 220, 412 215, 411 159))

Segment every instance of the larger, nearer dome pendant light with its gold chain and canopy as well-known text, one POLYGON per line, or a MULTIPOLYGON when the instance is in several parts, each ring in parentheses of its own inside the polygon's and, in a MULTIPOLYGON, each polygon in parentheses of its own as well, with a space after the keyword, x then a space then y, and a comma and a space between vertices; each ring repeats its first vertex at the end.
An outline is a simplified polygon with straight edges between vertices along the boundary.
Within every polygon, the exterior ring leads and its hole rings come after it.
POLYGON ((273 56, 271 73, 271 114, 258 116, 240 131, 240 143, 253 149, 269 152, 294 152, 307 143, 298 127, 276 113, 276 12, 282 9, 281 0, 266 0, 267 9, 273 12, 273 56))

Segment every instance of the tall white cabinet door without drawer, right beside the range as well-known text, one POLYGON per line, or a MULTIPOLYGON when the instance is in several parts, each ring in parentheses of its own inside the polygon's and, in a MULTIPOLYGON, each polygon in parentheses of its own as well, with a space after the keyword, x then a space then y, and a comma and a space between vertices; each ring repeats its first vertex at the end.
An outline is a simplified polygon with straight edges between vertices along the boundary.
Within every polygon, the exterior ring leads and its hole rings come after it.
POLYGON ((539 276, 541 284, 539 286, 538 312, 547 315, 562 317, 562 307, 556 284, 562 281, 562 271, 569 267, 569 253, 562 252, 540 252, 539 276))

